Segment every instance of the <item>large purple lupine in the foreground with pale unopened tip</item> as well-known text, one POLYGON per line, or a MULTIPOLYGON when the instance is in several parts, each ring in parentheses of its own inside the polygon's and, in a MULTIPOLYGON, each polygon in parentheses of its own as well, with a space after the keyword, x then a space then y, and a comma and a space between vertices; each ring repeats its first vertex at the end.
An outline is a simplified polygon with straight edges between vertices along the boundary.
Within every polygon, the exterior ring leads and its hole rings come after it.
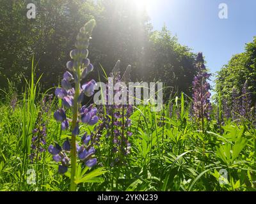
MULTIPOLYGON (((67 172, 68 167, 70 166, 70 159, 67 154, 75 156, 77 152, 77 156, 79 156, 81 161, 83 161, 88 167, 92 167, 97 163, 97 159, 92 158, 93 154, 95 154, 94 147, 92 147, 92 144, 90 144, 90 147, 88 146, 90 136, 86 135, 82 138, 81 146, 74 143, 74 141, 76 141, 76 136, 79 135, 80 132, 79 122, 94 125, 99 120, 97 117, 97 108, 93 108, 92 105, 80 108, 84 95, 88 97, 92 96, 94 94, 94 85, 96 84, 95 80, 91 80, 90 82, 81 85, 81 81, 88 75, 88 73, 93 71, 93 65, 90 64, 90 60, 87 57, 89 53, 88 46, 90 35, 92 34, 94 25, 95 20, 91 20, 80 29, 76 38, 76 48, 70 52, 70 58, 72 61, 67 62, 68 71, 63 74, 61 87, 58 87, 55 91, 55 95, 62 101, 63 108, 54 112, 54 119, 56 119, 57 122, 61 122, 61 129, 68 129, 69 122, 72 121, 72 128, 70 128, 70 130, 72 131, 71 143, 73 143, 70 144, 67 139, 63 143, 62 148, 60 145, 56 144, 55 146, 50 145, 48 149, 52 154, 52 159, 61 163, 58 171, 62 174, 67 172), (76 87, 76 89, 72 87, 73 84, 75 84, 74 87, 76 87), (72 120, 67 118, 64 108, 72 108, 72 120)), ((74 159, 71 159, 71 163, 74 161, 74 159)), ((72 190, 74 190, 73 187, 76 186, 76 184, 74 184, 74 177, 76 175, 76 172, 74 173, 74 171, 76 171, 76 169, 73 168, 76 164, 73 164, 74 163, 71 165, 72 190)))

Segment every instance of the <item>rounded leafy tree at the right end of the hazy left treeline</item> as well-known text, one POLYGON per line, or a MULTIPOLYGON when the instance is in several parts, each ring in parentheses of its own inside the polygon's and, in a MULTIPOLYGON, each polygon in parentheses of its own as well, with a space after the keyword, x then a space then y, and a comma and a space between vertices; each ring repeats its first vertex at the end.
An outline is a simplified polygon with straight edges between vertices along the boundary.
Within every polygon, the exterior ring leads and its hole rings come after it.
POLYGON ((150 73, 150 75, 144 78, 159 80, 164 82, 166 87, 173 87, 176 92, 191 95, 191 85, 196 69, 195 54, 188 47, 180 45, 177 37, 172 36, 164 26, 161 31, 152 33, 150 47, 146 53, 148 64, 143 68, 143 73, 150 73))

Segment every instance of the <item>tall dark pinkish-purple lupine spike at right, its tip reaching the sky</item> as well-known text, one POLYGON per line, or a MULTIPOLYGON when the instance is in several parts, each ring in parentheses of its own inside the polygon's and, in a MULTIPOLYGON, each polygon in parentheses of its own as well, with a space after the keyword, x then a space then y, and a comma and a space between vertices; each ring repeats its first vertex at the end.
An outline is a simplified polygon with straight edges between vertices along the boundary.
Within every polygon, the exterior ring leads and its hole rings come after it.
POLYGON ((209 92, 210 84, 207 82, 211 74, 207 73, 204 66, 204 59, 202 53, 198 53, 196 58, 196 68, 198 68, 198 75, 193 81, 193 113, 197 119, 210 119, 211 112, 211 93, 209 92))

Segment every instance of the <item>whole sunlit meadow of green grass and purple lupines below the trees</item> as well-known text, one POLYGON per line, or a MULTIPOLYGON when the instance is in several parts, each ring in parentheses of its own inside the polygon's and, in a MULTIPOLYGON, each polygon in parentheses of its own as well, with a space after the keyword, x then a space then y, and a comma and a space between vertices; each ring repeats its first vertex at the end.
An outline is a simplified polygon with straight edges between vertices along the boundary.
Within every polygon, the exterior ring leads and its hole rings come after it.
MULTIPOLYGON (((231 77, 223 87, 220 72, 212 98, 199 52, 192 56, 191 94, 170 94, 163 84, 154 99, 138 99, 149 88, 141 80, 132 87, 139 94, 126 89, 131 65, 124 69, 116 59, 106 73, 88 58, 96 24, 88 20, 78 30, 49 89, 42 91, 35 57, 21 91, 15 80, 1 87, 0 191, 255 191, 255 76, 240 87, 231 77)), ((255 40, 250 45, 255 55, 255 40)))

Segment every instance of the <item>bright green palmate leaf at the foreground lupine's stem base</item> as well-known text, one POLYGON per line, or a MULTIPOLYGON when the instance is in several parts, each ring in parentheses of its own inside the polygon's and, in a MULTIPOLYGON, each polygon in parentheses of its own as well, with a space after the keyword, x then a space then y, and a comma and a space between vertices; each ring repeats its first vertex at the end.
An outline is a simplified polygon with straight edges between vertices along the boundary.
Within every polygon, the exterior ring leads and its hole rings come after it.
POLYGON ((107 171, 104 171, 104 168, 97 168, 96 170, 91 171, 90 173, 84 175, 81 179, 76 179, 75 183, 92 183, 92 182, 103 182, 104 180, 102 178, 99 178, 99 175, 102 175, 106 173, 107 171))

